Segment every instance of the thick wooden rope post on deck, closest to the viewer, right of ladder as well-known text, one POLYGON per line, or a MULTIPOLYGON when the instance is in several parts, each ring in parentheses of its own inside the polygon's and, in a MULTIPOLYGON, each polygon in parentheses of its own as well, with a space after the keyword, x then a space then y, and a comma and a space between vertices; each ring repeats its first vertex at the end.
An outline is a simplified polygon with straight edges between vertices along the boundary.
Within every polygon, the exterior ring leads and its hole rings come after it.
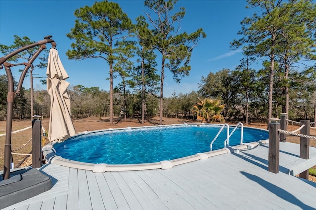
POLYGON ((268 171, 273 173, 279 172, 280 165, 280 139, 278 129, 280 123, 278 118, 269 119, 271 122, 268 124, 269 129, 269 157, 268 157, 268 171))

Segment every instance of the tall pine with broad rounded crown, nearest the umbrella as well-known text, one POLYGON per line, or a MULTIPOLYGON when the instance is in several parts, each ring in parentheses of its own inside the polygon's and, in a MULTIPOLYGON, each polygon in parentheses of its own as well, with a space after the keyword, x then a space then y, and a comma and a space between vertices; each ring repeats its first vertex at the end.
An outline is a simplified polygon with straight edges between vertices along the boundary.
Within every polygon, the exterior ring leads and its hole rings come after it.
POLYGON ((74 39, 69 59, 102 58, 109 64, 110 74, 110 124, 113 124, 113 64, 117 59, 115 41, 124 39, 133 31, 132 21, 118 3, 102 1, 91 7, 75 11, 75 27, 67 34, 74 39))

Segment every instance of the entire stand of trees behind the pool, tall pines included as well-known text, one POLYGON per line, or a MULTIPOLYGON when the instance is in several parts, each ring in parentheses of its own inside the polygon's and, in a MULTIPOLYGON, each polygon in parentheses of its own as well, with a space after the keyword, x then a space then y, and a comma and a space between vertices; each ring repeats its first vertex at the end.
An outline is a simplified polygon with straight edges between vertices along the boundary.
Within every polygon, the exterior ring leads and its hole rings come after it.
MULTIPOLYGON (((190 34, 179 32, 185 8, 175 11, 177 0, 145 0, 146 12, 134 23, 115 2, 96 2, 91 7, 77 9, 75 26, 67 34, 74 42, 66 54, 69 59, 104 59, 109 66, 110 91, 81 85, 72 87, 69 90, 72 115, 109 116, 110 124, 113 116, 121 112, 125 117, 140 114, 142 121, 146 116, 158 115, 161 124, 163 116, 193 117, 194 105, 204 102, 203 98, 214 98, 225 104, 226 120, 248 123, 249 119, 278 117, 282 112, 290 119, 315 119, 316 65, 305 62, 304 70, 298 67, 302 61, 316 60, 315 3, 247 2, 247 7, 256 8, 258 13, 244 18, 237 33, 242 38, 231 42, 232 49, 242 48, 244 58, 240 65, 235 70, 223 69, 202 77, 197 92, 174 93, 168 98, 163 96, 165 69, 173 73, 176 82, 189 75, 193 49, 206 37, 202 28, 190 34), (160 74, 157 73, 157 54, 162 57, 160 74), (132 62, 132 58, 137 61, 132 62), (262 68, 252 69, 254 62, 261 62, 262 68), (121 81, 118 87, 113 87, 113 79, 121 81)), ((18 36, 15 38, 17 41, 12 46, 1 45, 4 54, 23 43, 18 36)), ((24 37, 24 41, 30 40, 24 37)), ((22 59, 22 56, 14 59, 22 59)), ((28 90, 24 91, 28 97, 28 90)), ((29 92, 32 100, 33 87, 29 92)), ((36 91, 31 107, 33 104, 37 107, 37 94, 46 100, 44 91, 36 91)), ((19 101, 16 101, 20 112, 17 115, 24 118, 28 115, 23 113, 27 107, 18 105, 19 101)), ((41 108, 42 113, 46 110, 47 107, 41 108)), ((1 107, 1 117, 2 111, 1 107)), ((35 108, 36 111, 39 110, 35 108)))

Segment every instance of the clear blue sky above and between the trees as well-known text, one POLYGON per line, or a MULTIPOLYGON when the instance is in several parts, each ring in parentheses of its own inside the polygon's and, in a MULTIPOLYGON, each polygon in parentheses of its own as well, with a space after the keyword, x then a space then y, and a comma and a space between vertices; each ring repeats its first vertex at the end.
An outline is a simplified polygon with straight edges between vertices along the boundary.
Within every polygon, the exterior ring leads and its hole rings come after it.
MULTIPOLYGON (((52 35, 57 43, 61 61, 69 75, 68 82, 71 86, 83 85, 85 87, 99 87, 109 90, 109 67, 101 59, 85 59, 81 61, 69 60, 66 51, 70 49, 73 40, 66 34, 74 28, 74 11, 84 6, 92 6, 94 0, 0 0, 0 43, 13 44, 13 35, 27 36, 32 41, 40 41, 46 35, 52 35)), ((134 21, 136 17, 144 15, 143 0, 118 0, 122 10, 134 21)), ((243 0, 179 0, 177 6, 185 7, 186 15, 181 23, 181 32, 191 33, 198 28, 203 28, 207 37, 193 50, 191 57, 190 75, 184 77, 178 84, 173 80, 171 73, 165 70, 164 96, 169 97, 175 91, 189 93, 198 90, 202 76, 209 72, 217 72, 223 68, 235 69, 242 59, 242 51, 230 50, 230 42, 240 38, 237 32, 241 28, 240 22, 246 16, 252 16, 256 11, 246 9, 243 0)), ((50 44, 46 45, 49 49, 50 44)), ((4 55, 0 55, 1 57, 4 55)), ((36 62, 36 61, 35 61, 36 62)), ((161 63, 157 60, 158 74, 160 75, 161 63)), ((259 66, 260 67, 260 66, 259 66)), ((12 67, 15 80, 20 77, 19 69, 12 67)), ((0 70, 5 74, 5 70, 0 70)), ((34 70, 34 73, 45 77, 46 70, 34 70)), ((114 81, 114 86, 119 80, 114 81)), ((25 78, 23 87, 30 87, 29 77, 25 78)), ((46 89, 40 84, 40 79, 34 79, 34 88, 46 89)))

